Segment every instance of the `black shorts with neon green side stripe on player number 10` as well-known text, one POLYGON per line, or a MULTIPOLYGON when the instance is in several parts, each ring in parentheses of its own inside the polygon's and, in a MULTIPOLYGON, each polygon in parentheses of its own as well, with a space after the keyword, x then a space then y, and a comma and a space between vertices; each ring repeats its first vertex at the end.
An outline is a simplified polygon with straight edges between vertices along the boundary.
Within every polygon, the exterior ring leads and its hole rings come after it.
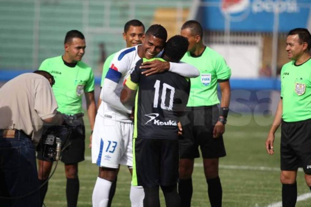
POLYGON ((178 139, 133 139, 133 186, 172 186, 178 181, 178 139))

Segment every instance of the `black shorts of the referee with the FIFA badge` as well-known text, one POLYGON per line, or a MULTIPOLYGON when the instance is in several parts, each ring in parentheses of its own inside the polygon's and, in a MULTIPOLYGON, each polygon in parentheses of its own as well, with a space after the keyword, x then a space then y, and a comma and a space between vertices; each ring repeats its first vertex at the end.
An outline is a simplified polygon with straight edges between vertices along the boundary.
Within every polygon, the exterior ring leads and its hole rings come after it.
POLYGON ((203 158, 226 156, 222 135, 213 138, 213 130, 218 118, 217 105, 186 108, 186 115, 181 119, 183 135, 179 139, 180 158, 199 158, 199 146, 203 158))

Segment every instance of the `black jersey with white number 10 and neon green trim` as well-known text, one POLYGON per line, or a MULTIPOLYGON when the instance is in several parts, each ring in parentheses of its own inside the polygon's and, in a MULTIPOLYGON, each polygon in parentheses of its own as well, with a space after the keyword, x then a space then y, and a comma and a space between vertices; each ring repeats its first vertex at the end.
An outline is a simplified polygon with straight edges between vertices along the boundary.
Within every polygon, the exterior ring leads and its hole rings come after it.
POLYGON ((126 81, 131 89, 136 89, 138 85, 133 137, 178 139, 178 117, 187 105, 190 81, 171 72, 142 75, 139 66, 152 60, 139 60, 126 81))

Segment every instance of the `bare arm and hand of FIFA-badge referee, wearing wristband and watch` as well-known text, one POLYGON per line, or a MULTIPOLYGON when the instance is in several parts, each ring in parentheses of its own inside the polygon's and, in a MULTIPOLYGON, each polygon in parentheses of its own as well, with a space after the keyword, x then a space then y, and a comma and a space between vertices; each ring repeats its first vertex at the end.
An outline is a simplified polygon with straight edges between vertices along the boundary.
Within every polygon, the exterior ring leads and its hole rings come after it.
MULTIPOLYGON (((230 90, 230 82, 229 80, 220 82, 219 83, 220 90, 221 90, 221 101, 220 101, 220 107, 229 108, 230 104, 230 96, 231 96, 231 90, 230 90)), ((219 116, 220 118, 226 118, 224 116, 219 116)), ((225 133, 225 125, 221 123, 220 121, 217 121, 214 130, 213 130, 213 137, 217 138, 221 134, 225 133)))

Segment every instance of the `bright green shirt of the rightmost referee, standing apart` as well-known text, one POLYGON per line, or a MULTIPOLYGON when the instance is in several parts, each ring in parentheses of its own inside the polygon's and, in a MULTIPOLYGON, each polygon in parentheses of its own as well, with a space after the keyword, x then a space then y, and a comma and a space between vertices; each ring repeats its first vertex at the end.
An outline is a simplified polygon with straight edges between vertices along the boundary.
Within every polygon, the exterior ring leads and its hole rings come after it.
POLYGON ((281 70, 282 118, 286 122, 311 119, 311 60, 301 65, 295 61, 281 70))

